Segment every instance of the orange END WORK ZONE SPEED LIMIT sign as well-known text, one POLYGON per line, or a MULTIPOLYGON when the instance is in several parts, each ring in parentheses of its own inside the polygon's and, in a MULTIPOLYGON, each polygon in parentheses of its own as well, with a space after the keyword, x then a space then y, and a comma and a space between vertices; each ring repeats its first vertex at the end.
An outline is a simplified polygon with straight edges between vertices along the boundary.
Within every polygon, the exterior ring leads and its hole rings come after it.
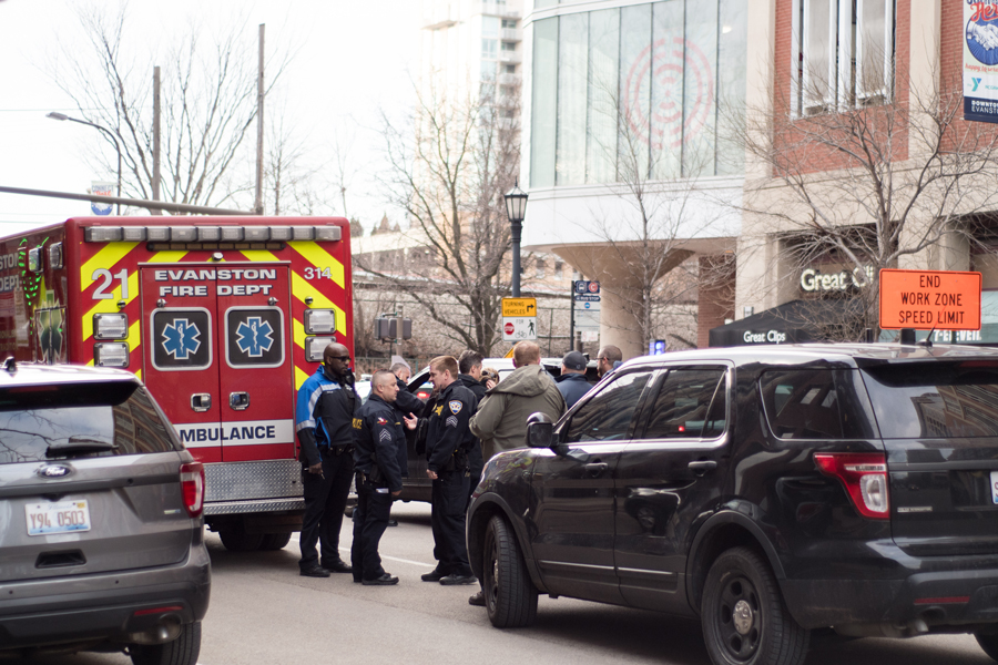
POLYGON ((980 273, 880 270, 880 327, 980 330, 980 273))

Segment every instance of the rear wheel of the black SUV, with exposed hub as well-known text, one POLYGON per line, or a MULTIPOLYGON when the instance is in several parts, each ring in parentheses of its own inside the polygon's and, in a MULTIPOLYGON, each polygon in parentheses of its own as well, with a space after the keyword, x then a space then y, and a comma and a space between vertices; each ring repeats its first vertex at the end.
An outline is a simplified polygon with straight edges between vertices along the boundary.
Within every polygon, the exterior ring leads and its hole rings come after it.
POLYGON ((768 564, 748 548, 714 561, 701 621, 715 665, 800 665, 807 653, 809 632, 790 615, 768 564))

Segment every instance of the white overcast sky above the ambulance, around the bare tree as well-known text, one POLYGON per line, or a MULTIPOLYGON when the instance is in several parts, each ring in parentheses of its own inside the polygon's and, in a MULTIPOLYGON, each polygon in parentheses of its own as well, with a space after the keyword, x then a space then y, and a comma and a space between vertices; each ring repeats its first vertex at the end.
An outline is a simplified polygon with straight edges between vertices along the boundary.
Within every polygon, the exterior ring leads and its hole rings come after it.
MULTIPOLYGON (((95 173, 88 164, 88 151, 100 145, 98 130, 45 117, 50 111, 80 115, 47 74, 47 62, 60 43, 83 43, 72 4, 85 1, 0 0, 0 185, 83 193, 92 181, 116 178, 116 173, 95 173)), ((109 11, 118 7, 115 0, 102 4, 109 11)), ((132 0, 128 11, 138 48, 161 66, 166 63, 156 54, 165 52, 163 41, 181 34, 191 20, 218 29, 220 22, 243 16, 246 39, 254 42, 257 25, 265 23, 267 51, 278 45, 295 50, 267 109, 287 110, 296 134, 307 141, 307 158, 316 165, 328 158, 337 131, 356 136, 354 162, 364 173, 348 192, 348 212, 369 228, 389 209, 369 178, 379 167, 381 143, 365 127, 376 125, 379 108, 403 112, 410 104, 408 68, 418 55, 419 2, 132 0)), ((249 141, 255 144, 255 130, 249 141)), ((113 162, 114 151, 108 150, 113 162)), ((320 173, 316 182, 322 185, 329 177, 320 173)), ((85 214, 85 202, 0 194, 0 235, 85 214)))

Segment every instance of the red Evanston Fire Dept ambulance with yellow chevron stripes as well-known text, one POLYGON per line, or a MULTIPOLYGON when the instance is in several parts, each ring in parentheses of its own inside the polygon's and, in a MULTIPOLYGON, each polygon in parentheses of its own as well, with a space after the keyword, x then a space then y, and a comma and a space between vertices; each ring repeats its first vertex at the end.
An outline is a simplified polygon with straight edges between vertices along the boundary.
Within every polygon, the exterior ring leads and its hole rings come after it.
POLYGON ((295 391, 353 355, 339 217, 74 217, 0 239, 0 357, 141 378, 194 459, 232 550, 301 529, 295 391))

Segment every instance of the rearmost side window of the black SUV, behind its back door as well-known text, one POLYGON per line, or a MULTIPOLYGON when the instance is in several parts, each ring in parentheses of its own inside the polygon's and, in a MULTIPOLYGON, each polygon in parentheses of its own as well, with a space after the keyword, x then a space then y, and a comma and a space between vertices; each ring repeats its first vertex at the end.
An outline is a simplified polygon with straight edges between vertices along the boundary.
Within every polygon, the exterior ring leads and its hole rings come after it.
POLYGON ((781 439, 841 440, 874 436, 857 370, 767 371, 760 377, 758 386, 766 421, 781 439))

